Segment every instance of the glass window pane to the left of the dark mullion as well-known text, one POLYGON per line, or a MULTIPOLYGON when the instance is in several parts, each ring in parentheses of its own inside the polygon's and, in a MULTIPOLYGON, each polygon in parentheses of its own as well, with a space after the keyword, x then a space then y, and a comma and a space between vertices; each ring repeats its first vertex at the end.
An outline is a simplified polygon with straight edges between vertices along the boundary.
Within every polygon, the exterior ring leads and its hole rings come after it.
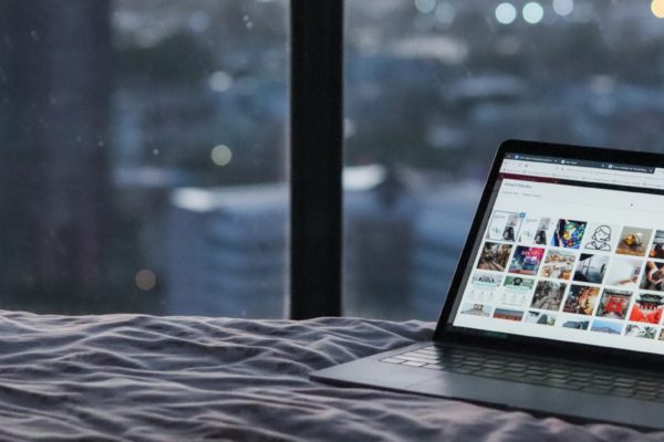
POLYGON ((283 316, 287 0, 0 9, 0 308, 283 316))

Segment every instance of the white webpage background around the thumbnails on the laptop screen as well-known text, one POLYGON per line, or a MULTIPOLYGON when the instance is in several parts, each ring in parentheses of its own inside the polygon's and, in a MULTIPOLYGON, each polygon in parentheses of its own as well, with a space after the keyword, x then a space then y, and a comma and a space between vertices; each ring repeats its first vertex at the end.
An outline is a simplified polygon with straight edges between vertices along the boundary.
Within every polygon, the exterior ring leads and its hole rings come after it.
MULTIPOLYGON (((637 193, 619 190, 505 179, 500 186, 498 196, 496 198, 496 202, 494 204, 494 208, 491 209, 491 213, 496 210, 519 213, 525 212, 527 218, 550 217, 552 223, 556 223, 558 219, 571 219, 578 221, 587 221, 589 224, 618 224, 621 227, 621 229, 625 225, 635 228, 646 228, 652 229, 653 233, 657 229, 664 229, 664 196, 652 193, 637 193)), ((620 232, 616 232, 615 234, 620 235, 620 232)), ((487 232, 483 232, 483 239, 485 239, 486 235, 487 232)), ((652 238, 650 242, 652 242, 652 238)), ((515 246, 512 248, 512 254, 513 249, 516 249, 516 245, 518 245, 519 243, 515 242, 513 244, 515 246)), ((483 245, 484 241, 481 242, 479 250, 481 250, 483 245)), ((549 249, 552 249, 550 245, 550 241, 549 244, 547 244, 546 246, 535 244, 529 245, 544 248, 547 249, 547 251, 549 249)), ((649 243, 645 245, 650 249, 651 244, 649 243)), ((582 250, 574 251, 579 253, 584 253, 584 251, 582 250)), ((615 256, 614 253, 612 253, 611 255, 615 256)), ((473 272, 477 271, 479 257, 480 253, 476 253, 476 259, 473 263, 473 272)), ((645 256, 640 259, 645 264, 645 256)), ((509 275, 509 273, 507 273, 507 270, 506 272, 495 273, 504 276, 509 275)), ((475 301, 469 301, 467 298, 468 292, 471 290, 471 275, 468 278, 468 282, 466 283, 460 305, 464 305, 465 302, 476 303, 475 301)), ((536 280, 539 281, 540 277, 536 277, 536 280)), ((569 291, 570 281, 566 281, 566 283, 568 283, 569 291)), ((594 284, 594 286, 602 287, 600 290, 600 296, 596 299, 596 303, 599 303, 605 285, 594 284)), ((636 290, 630 291, 636 293, 636 290)), ((641 337, 627 337, 623 335, 610 335, 599 332, 591 332, 590 327, 588 330, 561 327, 560 324, 562 324, 562 320, 560 317, 568 315, 561 312, 562 304, 566 297, 567 292, 566 296, 563 296, 562 298, 561 306, 558 313, 553 311, 544 312, 559 316, 556 326, 546 326, 525 322, 511 322, 494 317, 464 315, 460 314, 460 308, 455 317, 454 325, 483 330, 501 332, 516 335, 525 335, 539 338, 566 340, 572 343, 590 344, 596 346, 664 355, 664 341, 657 340, 660 334, 658 325, 639 323, 643 326, 657 327, 657 336, 655 337, 655 339, 645 339, 641 337)), ((632 302, 634 297, 635 296, 633 295, 632 302)), ((515 309, 513 305, 498 305, 498 307, 515 309)), ((525 306, 520 309, 528 312, 530 308, 528 306, 525 306)), ((627 313, 630 312, 630 309, 627 309, 627 313)), ((590 320, 591 323, 593 319, 596 318, 596 316, 574 316, 575 318, 583 318, 584 320, 590 320)), ((629 324, 626 319, 623 320, 623 323, 625 325, 629 324)))

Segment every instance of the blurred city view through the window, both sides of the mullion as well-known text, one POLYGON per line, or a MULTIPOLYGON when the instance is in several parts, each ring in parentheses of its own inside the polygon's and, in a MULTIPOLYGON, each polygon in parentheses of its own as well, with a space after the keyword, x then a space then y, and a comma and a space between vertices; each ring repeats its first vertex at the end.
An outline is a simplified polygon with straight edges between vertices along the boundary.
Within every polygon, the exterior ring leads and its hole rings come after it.
MULTIPOLYGON (((661 150, 650 1, 346 0, 344 314, 435 319, 506 138, 661 150)), ((0 0, 0 308, 282 317, 287 0, 0 0)))

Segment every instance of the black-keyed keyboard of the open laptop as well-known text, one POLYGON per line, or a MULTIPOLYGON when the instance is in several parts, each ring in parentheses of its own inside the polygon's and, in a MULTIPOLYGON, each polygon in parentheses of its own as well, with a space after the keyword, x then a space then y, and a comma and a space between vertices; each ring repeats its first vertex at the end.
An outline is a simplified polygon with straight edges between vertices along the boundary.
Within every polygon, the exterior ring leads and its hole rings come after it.
POLYGON ((418 348, 381 359, 383 362, 513 380, 568 390, 664 402, 664 377, 601 370, 584 365, 537 360, 519 355, 468 348, 418 348))

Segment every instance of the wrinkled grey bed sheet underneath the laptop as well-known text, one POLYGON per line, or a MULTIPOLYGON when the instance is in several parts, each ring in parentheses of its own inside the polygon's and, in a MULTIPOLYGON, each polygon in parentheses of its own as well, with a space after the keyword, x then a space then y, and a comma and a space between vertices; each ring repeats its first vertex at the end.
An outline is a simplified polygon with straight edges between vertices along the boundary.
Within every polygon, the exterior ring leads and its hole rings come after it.
POLYGON ((426 340, 432 327, 0 312, 0 439, 664 440, 309 380, 315 369, 426 340))

